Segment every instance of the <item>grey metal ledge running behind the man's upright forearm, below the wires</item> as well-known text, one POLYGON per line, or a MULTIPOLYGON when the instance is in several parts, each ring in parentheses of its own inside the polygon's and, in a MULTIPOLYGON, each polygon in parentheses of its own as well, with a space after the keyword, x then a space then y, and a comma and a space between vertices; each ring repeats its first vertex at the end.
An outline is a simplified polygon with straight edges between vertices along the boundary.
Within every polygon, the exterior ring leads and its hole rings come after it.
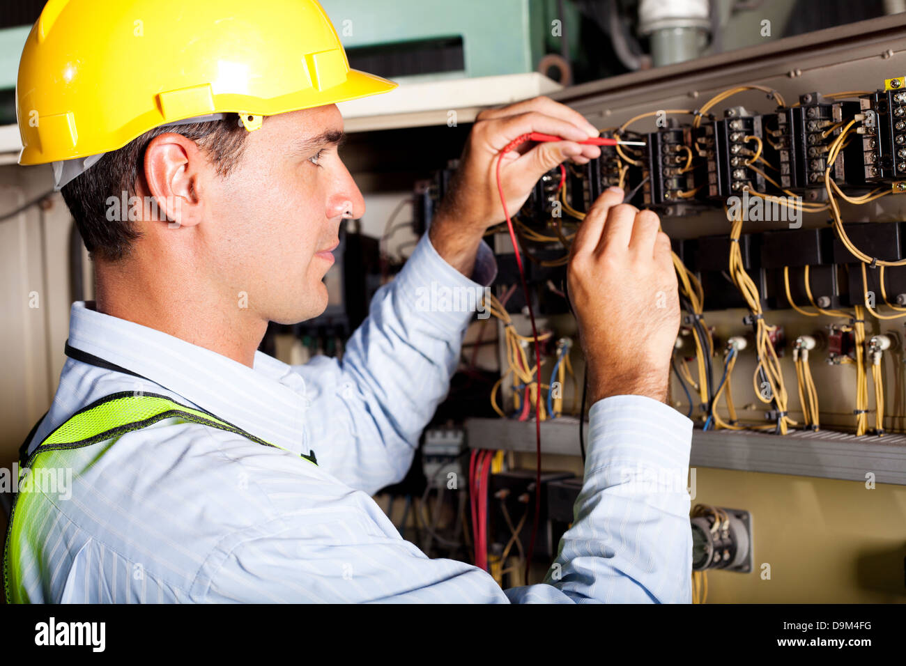
MULTIPOLYGON (((578 420, 571 418, 543 421, 542 452, 578 456, 578 428, 578 420)), ((535 451, 534 421, 469 419, 466 430, 472 448, 535 451)), ((779 437, 760 432, 695 430, 689 464, 863 482, 872 472, 877 483, 906 486, 906 436, 856 437, 831 430, 795 430, 779 437)))

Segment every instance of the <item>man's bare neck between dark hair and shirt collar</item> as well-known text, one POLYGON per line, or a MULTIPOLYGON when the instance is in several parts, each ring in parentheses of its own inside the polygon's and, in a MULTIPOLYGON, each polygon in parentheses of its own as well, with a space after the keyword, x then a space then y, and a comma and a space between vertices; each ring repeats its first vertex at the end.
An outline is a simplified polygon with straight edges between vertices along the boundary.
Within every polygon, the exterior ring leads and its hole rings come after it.
POLYGON ((267 321, 238 296, 218 293, 214 285, 199 285, 198 274, 191 271, 179 275, 179 271, 141 265, 140 259, 96 263, 95 272, 98 312, 168 333, 249 368, 255 366, 255 351, 267 321))

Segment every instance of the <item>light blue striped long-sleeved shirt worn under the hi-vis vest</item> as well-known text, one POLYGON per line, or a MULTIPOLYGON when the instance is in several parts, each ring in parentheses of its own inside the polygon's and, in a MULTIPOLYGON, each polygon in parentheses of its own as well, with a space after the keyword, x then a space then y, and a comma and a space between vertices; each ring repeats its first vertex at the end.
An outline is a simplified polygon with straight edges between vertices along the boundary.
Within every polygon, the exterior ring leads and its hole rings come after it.
MULTIPOLYGON (((473 276, 487 284, 494 270, 482 244, 473 276)), ((68 360, 33 449, 120 391, 171 396, 281 448, 173 418, 47 454, 72 468, 71 497, 34 498, 14 584, 33 602, 688 603, 692 424, 648 398, 593 405, 575 521, 543 584, 502 591, 400 537, 371 495, 405 476, 475 316, 419 311, 432 281, 479 286, 423 237, 342 361, 257 352, 254 370, 73 304, 72 346, 149 381, 68 360), (318 465, 299 457, 309 449, 318 465)))

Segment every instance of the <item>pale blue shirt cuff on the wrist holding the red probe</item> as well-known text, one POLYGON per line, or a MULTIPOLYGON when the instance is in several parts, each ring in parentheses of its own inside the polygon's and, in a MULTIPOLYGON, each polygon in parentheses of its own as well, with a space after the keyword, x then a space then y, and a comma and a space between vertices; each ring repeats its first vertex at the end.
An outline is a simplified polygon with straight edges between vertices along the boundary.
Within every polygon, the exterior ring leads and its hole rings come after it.
POLYGON ((454 333, 476 314, 478 319, 488 318, 483 299, 496 273, 494 252, 484 240, 478 244, 473 279, 469 279, 438 254, 425 234, 393 281, 393 288, 402 302, 415 304, 416 312, 431 314, 424 319, 454 333))

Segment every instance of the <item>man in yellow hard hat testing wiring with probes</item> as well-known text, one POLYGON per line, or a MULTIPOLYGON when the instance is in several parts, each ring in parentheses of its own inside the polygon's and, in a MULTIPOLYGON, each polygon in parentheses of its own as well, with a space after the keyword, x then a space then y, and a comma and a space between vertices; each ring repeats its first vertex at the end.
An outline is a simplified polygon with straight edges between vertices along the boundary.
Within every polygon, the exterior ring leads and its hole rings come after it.
POLYGON ((339 225, 364 213, 333 102, 391 87, 348 70, 313 0, 44 9, 18 82, 21 161, 55 163, 97 300, 72 305, 71 358, 27 448, 35 474, 72 469, 69 498, 20 492, 11 600, 689 601, 689 496, 651 483, 684 482, 689 464, 691 422, 663 402, 676 277, 657 217, 619 190, 573 243, 589 446, 545 583, 503 592, 476 567, 430 560, 370 497, 410 467, 471 319, 419 312, 419 287, 493 280, 482 236, 503 218, 498 152, 529 131, 564 138, 506 155, 516 210, 545 171, 599 155, 576 142, 597 135, 578 113, 538 98, 479 115, 429 234, 342 362, 256 351, 269 321, 323 312, 339 225), (121 189, 138 199, 110 216, 121 189))

